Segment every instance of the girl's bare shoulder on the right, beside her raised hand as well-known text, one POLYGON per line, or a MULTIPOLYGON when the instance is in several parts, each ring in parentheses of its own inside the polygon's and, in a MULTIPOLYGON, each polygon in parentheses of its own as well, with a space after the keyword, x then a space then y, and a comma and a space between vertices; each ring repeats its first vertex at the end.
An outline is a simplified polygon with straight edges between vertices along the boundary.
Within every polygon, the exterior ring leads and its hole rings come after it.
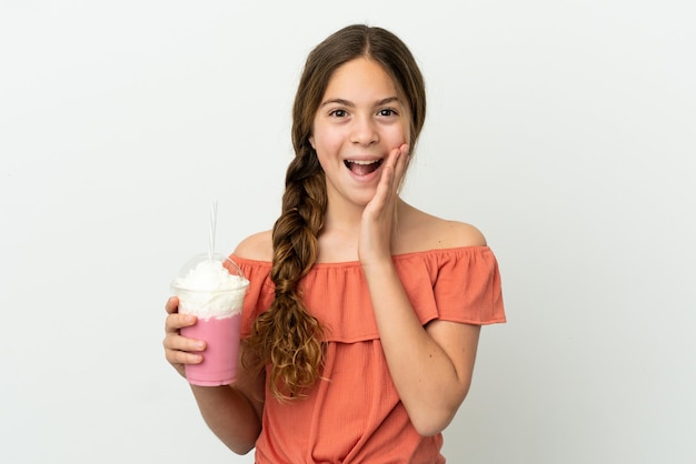
POLYGON ((476 226, 450 221, 407 206, 402 222, 400 251, 426 251, 463 246, 484 246, 486 238, 476 226))

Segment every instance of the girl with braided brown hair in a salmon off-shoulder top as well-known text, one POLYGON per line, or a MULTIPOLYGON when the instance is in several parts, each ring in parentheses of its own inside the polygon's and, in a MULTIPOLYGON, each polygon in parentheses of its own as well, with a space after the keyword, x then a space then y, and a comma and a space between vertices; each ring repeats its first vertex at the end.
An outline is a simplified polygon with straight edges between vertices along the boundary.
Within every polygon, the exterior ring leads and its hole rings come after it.
MULTIPOLYGON (((445 462, 480 325, 505 313, 481 233, 399 196, 425 114, 421 73, 392 33, 347 27, 309 54, 282 212, 231 256, 251 282, 238 379, 191 385, 232 451, 256 447, 257 463, 445 462)), ((177 305, 163 344, 183 375, 205 344, 179 334, 196 321, 177 305)))

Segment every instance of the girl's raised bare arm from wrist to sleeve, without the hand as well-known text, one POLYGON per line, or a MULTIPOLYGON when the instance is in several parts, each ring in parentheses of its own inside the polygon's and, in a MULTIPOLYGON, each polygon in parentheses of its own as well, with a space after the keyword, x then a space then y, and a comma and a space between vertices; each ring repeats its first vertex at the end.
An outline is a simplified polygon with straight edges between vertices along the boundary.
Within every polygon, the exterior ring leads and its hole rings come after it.
POLYGON ((389 373, 421 435, 451 422, 471 382, 478 325, 420 325, 391 262, 365 269, 389 373))

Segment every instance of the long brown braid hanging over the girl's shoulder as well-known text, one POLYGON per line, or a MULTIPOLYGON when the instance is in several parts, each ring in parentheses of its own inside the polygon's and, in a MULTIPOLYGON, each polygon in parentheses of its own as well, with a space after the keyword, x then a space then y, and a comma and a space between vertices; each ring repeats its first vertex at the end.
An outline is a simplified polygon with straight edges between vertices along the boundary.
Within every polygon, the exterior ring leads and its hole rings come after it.
POLYGON ((299 281, 317 261, 326 184, 316 154, 304 151, 288 168, 282 213, 274 225, 270 278, 276 297, 255 321, 247 341, 262 363, 270 363, 269 387, 279 400, 304 396, 319 379, 324 362, 324 331, 307 312, 299 281))

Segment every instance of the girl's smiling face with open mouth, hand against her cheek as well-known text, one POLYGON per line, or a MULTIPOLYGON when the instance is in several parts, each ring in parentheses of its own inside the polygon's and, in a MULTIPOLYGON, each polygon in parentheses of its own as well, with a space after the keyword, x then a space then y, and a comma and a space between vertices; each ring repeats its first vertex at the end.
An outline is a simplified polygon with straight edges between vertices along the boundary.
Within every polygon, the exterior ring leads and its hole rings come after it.
POLYGON ((338 68, 315 115, 309 142, 326 173, 329 203, 365 206, 389 152, 409 140, 408 107, 376 61, 338 68))

